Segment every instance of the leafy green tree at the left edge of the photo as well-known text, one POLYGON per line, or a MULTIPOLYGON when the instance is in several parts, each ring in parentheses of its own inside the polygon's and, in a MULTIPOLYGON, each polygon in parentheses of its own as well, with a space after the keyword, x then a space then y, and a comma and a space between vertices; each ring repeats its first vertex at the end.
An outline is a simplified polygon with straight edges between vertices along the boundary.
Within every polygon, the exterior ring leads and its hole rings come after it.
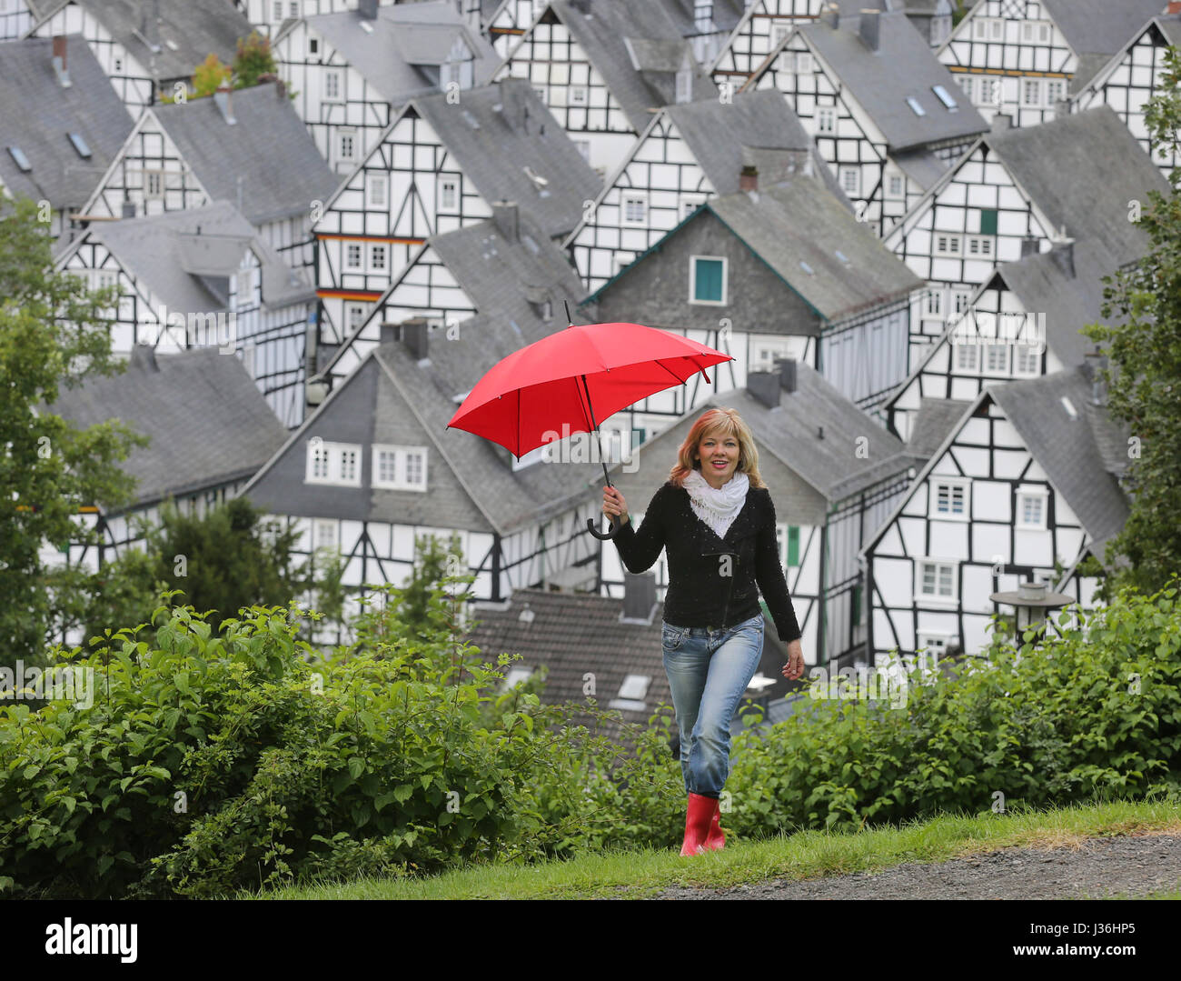
POLYGON ((28 199, 0 200, 0 664, 44 663, 53 574, 43 545, 93 540, 79 508, 129 500, 118 462, 144 443, 120 423, 77 429, 53 412, 63 385, 123 365, 103 313, 117 291, 53 271, 46 217, 28 199))

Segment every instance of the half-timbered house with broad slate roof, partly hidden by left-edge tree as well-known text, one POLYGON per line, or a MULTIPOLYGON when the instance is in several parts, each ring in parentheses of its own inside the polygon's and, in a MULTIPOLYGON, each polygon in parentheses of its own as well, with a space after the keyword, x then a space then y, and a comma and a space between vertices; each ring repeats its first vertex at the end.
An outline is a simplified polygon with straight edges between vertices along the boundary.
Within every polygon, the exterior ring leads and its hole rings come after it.
POLYGON ((235 496, 288 435, 241 362, 216 349, 165 355, 136 345, 124 372, 64 388, 48 409, 79 428, 118 418, 150 440, 119 463, 136 480, 131 502, 90 505, 77 517, 80 527, 97 532, 98 544, 79 535, 65 554, 43 550, 47 564, 92 572, 142 546, 139 522, 157 527, 165 501, 200 517, 235 496))

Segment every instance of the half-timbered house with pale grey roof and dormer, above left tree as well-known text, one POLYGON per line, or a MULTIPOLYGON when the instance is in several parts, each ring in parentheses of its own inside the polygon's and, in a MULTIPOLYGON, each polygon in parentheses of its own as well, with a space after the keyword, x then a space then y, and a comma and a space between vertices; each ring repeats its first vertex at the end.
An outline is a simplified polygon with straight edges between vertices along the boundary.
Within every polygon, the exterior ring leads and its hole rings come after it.
POLYGON ((150 217, 93 222, 58 267, 117 286, 112 349, 213 346, 237 356, 283 424, 304 415, 315 292, 226 201, 150 217))

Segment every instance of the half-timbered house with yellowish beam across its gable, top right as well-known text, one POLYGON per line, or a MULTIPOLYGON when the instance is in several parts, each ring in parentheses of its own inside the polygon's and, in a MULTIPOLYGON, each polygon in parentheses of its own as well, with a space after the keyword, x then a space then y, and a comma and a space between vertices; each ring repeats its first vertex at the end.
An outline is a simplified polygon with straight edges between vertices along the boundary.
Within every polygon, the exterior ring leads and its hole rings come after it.
POLYGON ((1163 8, 1162 0, 980 0, 938 58, 986 119, 1037 125, 1062 115, 1059 103, 1163 8))

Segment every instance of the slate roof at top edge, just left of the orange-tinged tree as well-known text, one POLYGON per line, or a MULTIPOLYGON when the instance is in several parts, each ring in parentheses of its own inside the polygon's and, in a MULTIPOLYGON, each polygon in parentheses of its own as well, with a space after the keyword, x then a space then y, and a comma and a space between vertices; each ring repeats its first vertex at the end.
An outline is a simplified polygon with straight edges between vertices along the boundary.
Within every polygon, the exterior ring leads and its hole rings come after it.
MULTIPOLYGON (((71 0, 46 5, 37 26, 71 0)), ((159 22, 148 0, 74 0, 94 17, 128 53, 161 80, 191 78, 210 52, 226 64, 234 60, 239 38, 248 37, 248 21, 227 0, 157 0, 159 22), (137 34, 159 50, 154 52, 137 34)), ((35 30, 35 27, 34 27, 35 30)))

